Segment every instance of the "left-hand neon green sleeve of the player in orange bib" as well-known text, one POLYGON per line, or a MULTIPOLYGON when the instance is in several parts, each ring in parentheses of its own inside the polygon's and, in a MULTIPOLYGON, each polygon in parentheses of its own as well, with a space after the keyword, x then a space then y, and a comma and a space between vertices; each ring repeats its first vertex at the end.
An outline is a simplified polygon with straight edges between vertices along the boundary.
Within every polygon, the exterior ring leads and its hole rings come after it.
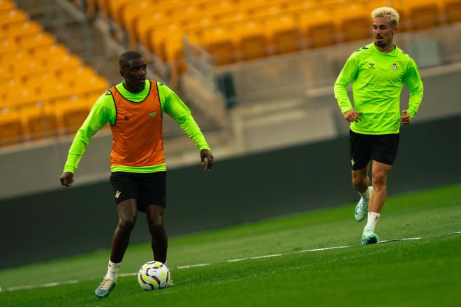
POLYGON ((73 173, 77 170, 80 158, 82 158, 83 153, 85 153, 89 141, 106 123, 113 123, 115 121, 114 114, 115 105, 112 95, 101 96, 93 105, 87 119, 85 119, 84 123, 75 134, 71 149, 69 149, 66 164, 64 165, 64 172, 73 173), (108 107, 108 102, 110 102, 110 100, 112 100, 114 110, 108 107))

